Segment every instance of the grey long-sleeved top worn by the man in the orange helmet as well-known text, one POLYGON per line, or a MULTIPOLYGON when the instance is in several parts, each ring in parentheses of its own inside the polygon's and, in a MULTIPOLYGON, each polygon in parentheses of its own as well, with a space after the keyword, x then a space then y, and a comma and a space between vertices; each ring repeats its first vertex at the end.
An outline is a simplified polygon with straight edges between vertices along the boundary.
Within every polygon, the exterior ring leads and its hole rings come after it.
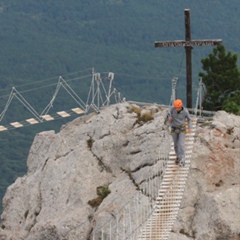
POLYGON ((185 107, 183 107, 180 112, 177 112, 176 109, 172 107, 169 112, 169 117, 172 117, 172 121, 171 121, 172 127, 179 127, 185 124, 185 121, 187 119, 188 128, 192 128, 190 114, 185 107))

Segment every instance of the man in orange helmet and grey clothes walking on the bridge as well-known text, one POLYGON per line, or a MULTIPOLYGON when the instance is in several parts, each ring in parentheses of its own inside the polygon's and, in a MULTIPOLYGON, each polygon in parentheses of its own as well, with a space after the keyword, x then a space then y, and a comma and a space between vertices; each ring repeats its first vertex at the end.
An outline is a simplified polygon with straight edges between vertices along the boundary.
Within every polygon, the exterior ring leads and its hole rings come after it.
POLYGON ((180 99, 177 99, 173 103, 173 107, 170 109, 169 118, 171 125, 171 134, 174 143, 174 150, 176 153, 176 164, 180 166, 185 165, 185 135, 187 131, 191 131, 191 118, 188 110, 183 107, 183 103, 180 99), (186 129, 185 121, 188 121, 188 129, 186 129))

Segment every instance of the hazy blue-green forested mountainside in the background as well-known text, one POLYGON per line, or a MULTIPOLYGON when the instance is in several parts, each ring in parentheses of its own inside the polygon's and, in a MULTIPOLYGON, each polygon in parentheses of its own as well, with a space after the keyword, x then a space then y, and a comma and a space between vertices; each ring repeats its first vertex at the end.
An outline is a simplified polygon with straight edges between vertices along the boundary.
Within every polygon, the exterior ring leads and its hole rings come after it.
MULTIPOLYGON (((191 10, 192 39, 221 38, 227 50, 240 52, 239 0, 1 0, 0 112, 13 86, 41 105, 45 93, 27 93, 41 88, 39 81, 92 67, 114 72, 116 87, 127 99, 168 104, 174 76, 179 77, 178 96, 184 98, 184 49, 155 49, 154 42, 185 38, 185 8, 191 10)), ((200 60, 211 51, 193 49, 194 94, 200 60)), ((9 119, 15 113, 24 118, 12 106, 9 119)), ((33 136, 61 124, 0 132, 0 198, 26 171, 33 136)))

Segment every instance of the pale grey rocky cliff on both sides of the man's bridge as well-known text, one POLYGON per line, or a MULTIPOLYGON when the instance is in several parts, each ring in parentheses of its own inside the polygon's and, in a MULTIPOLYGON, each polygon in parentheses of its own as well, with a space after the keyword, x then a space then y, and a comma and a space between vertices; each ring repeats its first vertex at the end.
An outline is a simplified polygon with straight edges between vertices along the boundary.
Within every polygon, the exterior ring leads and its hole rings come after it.
MULTIPOLYGON (((3 199, 0 239, 89 239, 154 171, 159 146, 171 140, 162 135, 165 115, 158 106, 126 102, 79 117, 59 133, 39 133, 27 174, 3 199)), ((240 239, 240 117, 220 111, 198 124, 170 239, 240 239)))

